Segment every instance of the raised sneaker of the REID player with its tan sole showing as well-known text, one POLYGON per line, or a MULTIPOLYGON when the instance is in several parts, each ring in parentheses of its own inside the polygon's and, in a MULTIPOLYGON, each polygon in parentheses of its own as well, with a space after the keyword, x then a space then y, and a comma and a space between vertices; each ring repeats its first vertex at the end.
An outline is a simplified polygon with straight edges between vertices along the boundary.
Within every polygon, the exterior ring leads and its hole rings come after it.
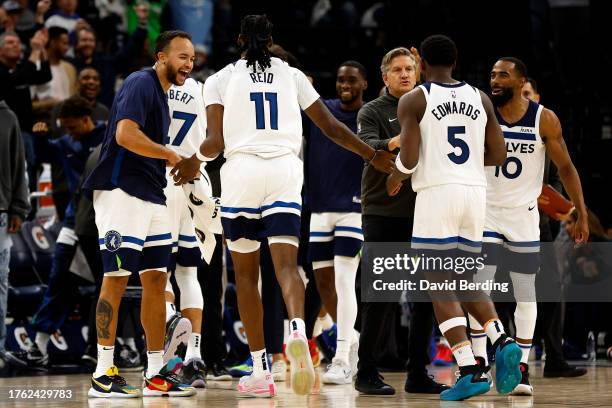
POLYGON ((302 333, 294 330, 287 341, 286 352, 290 362, 293 392, 298 395, 310 394, 315 382, 315 374, 308 340, 302 333))

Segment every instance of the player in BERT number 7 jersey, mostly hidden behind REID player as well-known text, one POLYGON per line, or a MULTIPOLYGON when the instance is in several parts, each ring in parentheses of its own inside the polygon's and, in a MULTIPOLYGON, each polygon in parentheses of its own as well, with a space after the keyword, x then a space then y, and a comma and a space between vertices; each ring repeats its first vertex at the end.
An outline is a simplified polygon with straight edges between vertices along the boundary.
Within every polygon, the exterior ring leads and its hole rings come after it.
MULTIPOLYGON (((182 86, 168 90, 170 129, 166 146, 182 157, 192 156, 206 135, 206 112, 203 99, 204 86, 188 78, 182 86)), ((166 341, 164 359, 175 356, 181 344, 187 345, 182 369, 183 381, 194 387, 205 386, 205 365, 200 351, 202 336, 202 309, 204 298, 198 282, 201 260, 193 221, 187 205, 188 198, 181 186, 174 185, 171 168, 167 168, 168 184, 164 189, 166 206, 170 214, 172 255, 168 270, 174 272, 181 292, 180 313, 175 313, 174 293, 170 275, 166 282, 166 341), (183 317, 184 316, 184 317, 183 317)))

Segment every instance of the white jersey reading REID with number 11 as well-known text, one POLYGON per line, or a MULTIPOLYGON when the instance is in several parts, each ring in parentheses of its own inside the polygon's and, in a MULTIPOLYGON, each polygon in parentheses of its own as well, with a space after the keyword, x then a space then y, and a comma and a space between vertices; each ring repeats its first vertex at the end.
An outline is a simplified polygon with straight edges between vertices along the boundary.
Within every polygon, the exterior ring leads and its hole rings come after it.
POLYGON ((319 94, 300 70, 278 58, 271 67, 247 67, 244 59, 229 64, 204 84, 206 106, 223 105, 225 157, 249 153, 270 158, 299 154, 300 110, 319 94))

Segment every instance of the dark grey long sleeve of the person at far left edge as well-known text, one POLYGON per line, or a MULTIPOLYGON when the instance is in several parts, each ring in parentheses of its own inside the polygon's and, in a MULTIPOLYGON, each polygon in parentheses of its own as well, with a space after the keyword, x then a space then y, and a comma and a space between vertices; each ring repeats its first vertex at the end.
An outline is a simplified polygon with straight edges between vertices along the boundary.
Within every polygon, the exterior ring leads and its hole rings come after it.
POLYGON ((19 122, 16 117, 14 122, 13 129, 11 130, 11 145, 13 146, 13 199, 9 203, 8 210, 10 214, 16 214, 25 219, 30 212, 30 192, 26 178, 25 150, 19 122))

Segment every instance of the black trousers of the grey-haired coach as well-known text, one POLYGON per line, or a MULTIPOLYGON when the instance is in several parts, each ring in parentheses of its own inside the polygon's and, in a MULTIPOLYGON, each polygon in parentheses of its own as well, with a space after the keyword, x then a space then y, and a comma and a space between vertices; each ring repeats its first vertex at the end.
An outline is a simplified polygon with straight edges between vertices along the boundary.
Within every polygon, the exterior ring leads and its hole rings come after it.
MULTIPOLYGON (((363 235, 366 242, 410 242, 412 218, 363 215, 363 235)), ((395 320, 396 303, 363 302, 361 309, 361 337, 359 339, 359 370, 376 368, 376 355, 387 344, 382 339, 383 326, 389 319, 395 320)), ((408 336, 409 372, 424 371, 429 364, 428 348, 433 329, 431 303, 415 303, 410 319, 408 336)))

